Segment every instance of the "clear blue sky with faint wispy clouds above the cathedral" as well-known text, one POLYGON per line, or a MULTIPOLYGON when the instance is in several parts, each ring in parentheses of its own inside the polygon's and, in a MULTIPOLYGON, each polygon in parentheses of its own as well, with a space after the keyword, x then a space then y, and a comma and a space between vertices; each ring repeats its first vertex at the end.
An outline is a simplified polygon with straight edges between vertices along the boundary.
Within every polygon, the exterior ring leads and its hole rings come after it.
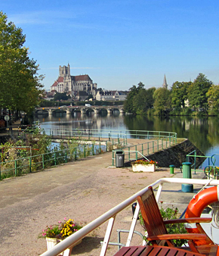
POLYGON ((30 57, 45 74, 59 66, 87 73, 98 88, 168 88, 204 73, 219 84, 219 1, 1 0, 8 20, 23 29, 30 57))

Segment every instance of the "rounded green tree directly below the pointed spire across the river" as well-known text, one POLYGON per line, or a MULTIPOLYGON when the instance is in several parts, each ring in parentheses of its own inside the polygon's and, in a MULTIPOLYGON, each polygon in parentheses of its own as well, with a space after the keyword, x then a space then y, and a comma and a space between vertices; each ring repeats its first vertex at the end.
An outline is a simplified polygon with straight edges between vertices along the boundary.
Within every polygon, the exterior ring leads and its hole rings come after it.
POLYGON ((161 87, 159 89, 156 89, 153 94, 153 98, 156 114, 168 114, 171 110, 171 92, 168 89, 161 87))

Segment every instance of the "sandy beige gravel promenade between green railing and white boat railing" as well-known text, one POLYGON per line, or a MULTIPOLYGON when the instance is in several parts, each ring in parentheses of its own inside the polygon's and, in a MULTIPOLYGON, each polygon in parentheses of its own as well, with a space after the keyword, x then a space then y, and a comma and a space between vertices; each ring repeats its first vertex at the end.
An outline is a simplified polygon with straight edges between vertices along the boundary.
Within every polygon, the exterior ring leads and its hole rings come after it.
MULTIPOLYGON (((112 152, 107 152, 51 167, 39 173, 2 180, 0 254, 42 254, 46 250, 46 242, 38 236, 45 226, 57 223, 65 217, 89 223, 150 183, 162 177, 173 176, 168 169, 159 169, 155 173, 133 173, 131 167, 116 168, 111 164, 112 152)), ((175 175, 182 176, 180 170, 175 172, 175 175)), ((162 201, 168 201, 168 196, 167 194, 166 198, 162 198, 162 201)), ((187 196, 192 197, 184 194, 180 198, 180 204, 177 204, 179 198, 174 198, 177 206, 183 206, 184 202, 186 204, 187 196)), ((131 208, 116 217, 111 241, 117 241, 116 229, 130 227, 131 217, 131 208)), ((83 239, 73 254, 99 255, 100 241, 103 241, 105 230, 106 223, 83 239)), ((137 230, 143 231, 139 223, 137 230)), ((109 255, 116 250, 116 246, 110 246, 109 255)))

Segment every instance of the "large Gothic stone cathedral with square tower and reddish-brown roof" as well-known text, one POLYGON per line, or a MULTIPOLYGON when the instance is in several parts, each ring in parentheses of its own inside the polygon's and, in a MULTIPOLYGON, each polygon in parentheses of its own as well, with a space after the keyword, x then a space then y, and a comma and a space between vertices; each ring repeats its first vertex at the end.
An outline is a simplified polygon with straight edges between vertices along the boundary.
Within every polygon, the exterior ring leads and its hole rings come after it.
POLYGON ((73 97, 81 91, 95 95, 96 89, 97 83, 93 83, 90 76, 71 76, 69 64, 67 67, 59 67, 59 77, 51 86, 51 92, 66 92, 73 97))

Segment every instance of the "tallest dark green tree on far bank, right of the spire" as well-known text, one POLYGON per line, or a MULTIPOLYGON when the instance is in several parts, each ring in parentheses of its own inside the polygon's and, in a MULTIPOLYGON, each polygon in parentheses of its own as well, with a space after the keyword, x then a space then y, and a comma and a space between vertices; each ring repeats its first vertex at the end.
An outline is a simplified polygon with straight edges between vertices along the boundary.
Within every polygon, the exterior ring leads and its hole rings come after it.
POLYGON ((207 77, 199 73, 193 83, 188 88, 188 99, 190 101, 190 106, 195 108, 196 111, 208 110, 208 98, 206 93, 208 89, 212 86, 212 82, 207 79, 207 77))

